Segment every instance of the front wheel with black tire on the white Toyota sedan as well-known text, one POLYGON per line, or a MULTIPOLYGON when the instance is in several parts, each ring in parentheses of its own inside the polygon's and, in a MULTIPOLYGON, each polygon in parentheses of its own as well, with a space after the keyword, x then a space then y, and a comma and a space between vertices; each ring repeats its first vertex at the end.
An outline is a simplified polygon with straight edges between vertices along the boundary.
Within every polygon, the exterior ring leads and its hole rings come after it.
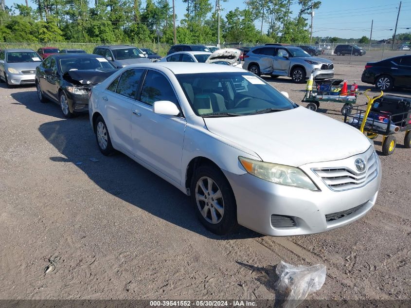
POLYGON ((191 181, 191 201, 204 227, 225 235, 238 227, 237 204, 230 183, 213 165, 200 165, 191 181))

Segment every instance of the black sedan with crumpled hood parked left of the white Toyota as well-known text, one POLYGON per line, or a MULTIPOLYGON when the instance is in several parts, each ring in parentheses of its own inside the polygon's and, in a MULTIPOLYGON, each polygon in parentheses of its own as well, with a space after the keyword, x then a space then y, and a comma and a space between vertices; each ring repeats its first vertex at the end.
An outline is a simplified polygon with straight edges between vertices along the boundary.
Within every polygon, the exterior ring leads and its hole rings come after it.
POLYGON ((60 105, 66 118, 89 112, 89 92, 117 69, 95 54, 54 54, 36 68, 36 88, 40 102, 60 105))

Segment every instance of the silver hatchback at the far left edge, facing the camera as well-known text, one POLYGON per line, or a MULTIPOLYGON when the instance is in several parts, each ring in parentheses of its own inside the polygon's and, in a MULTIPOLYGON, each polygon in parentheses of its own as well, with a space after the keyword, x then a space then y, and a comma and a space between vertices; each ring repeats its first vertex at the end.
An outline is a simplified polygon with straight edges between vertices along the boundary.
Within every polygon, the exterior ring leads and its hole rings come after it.
POLYGON ((31 49, 5 49, 0 52, 0 81, 8 87, 34 84, 41 57, 31 49))

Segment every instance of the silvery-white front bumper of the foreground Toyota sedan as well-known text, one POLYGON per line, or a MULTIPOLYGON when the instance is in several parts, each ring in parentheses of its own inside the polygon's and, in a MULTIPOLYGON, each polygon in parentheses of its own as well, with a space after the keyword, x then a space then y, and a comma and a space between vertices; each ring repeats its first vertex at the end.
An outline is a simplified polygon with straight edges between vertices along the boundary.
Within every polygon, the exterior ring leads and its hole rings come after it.
POLYGON ((268 236, 297 236, 336 229, 364 216, 374 206, 378 195, 381 182, 379 162, 378 169, 378 175, 372 181, 345 191, 332 191, 312 172, 306 173, 320 191, 279 185, 248 173, 236 175, 224 171, 224 174, 234 192, 240 225, 268 236), (350 209, 355 211, 346 214, 350 209), (339 217, 339 213, 345 215, 339 217), (272 215, 290 217, 295 225, 274 227, 272 215))

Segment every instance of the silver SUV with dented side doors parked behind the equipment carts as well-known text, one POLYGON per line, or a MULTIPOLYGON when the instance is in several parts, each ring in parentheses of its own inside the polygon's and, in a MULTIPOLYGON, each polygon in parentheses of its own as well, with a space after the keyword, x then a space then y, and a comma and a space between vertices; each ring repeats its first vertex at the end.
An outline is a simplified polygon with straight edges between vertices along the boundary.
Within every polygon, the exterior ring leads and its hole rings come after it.
POLYGON ((288 76, 295 83, 304 83, 311 73, 316 80, 334 76, 334 64, 330 60, 312 57, 300 47, 280 44, 250 49, 244 56, 243 69, 258 76, 288 76))

